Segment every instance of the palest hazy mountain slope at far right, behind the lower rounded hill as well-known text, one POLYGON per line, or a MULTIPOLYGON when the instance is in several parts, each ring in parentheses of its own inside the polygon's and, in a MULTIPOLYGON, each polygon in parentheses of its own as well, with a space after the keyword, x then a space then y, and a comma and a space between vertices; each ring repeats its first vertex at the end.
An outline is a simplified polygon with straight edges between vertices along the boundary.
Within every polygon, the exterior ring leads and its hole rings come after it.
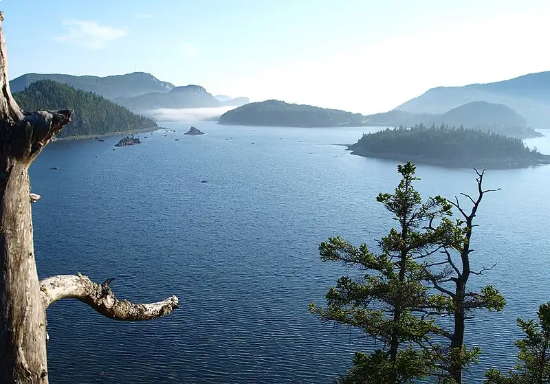
POLYGON ((468 102, 505 104, 535 128, 550 128, 550 71, 464 87, 438 87, 397 106, 412 113, 445 113, 468 102))

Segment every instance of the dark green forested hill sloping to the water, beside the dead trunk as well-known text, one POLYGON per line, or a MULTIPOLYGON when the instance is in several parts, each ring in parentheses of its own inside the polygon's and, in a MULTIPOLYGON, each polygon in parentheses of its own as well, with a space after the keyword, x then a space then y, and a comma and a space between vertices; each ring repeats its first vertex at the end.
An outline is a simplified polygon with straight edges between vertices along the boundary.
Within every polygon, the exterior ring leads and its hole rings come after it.
POLYGON ((72 122, 58 137, 140 131, 157 126, 153 120, 135 115, 100 95, 52 80, 34 82, 24 91, 14 93, 14 98, 25 111, 74 109, 72 122))

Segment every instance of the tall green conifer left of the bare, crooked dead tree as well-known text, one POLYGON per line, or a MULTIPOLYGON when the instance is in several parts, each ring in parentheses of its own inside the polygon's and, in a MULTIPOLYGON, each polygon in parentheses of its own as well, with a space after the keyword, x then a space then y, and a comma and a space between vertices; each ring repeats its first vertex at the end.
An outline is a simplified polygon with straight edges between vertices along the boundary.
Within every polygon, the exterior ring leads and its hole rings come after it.
POLYGON ((377 196, 399 223, 378 241, 380 253, 340 237, 319 247, 321 260, 357 267, 361 275, 338 279, 326 295, 327 307, 311 304, 311 313, 360 328, 383 346, 371 354, 355 354, 343 383, 410 383, 438 372, 437 349, 430 339, 441 332, 427 315, 432 307, 447 308, 448 299, 430 293, 422 259, 441 245, 456 242, 454 223, 448 218, 452 205, 441 196, 422 202, 412 186, 418 180, 412 163, 397 170, 401 181, 395 192, 377 196), (433 227, 433 223, 438 224, 433 227), (426 228, 428 224, 431 228, 426 228))

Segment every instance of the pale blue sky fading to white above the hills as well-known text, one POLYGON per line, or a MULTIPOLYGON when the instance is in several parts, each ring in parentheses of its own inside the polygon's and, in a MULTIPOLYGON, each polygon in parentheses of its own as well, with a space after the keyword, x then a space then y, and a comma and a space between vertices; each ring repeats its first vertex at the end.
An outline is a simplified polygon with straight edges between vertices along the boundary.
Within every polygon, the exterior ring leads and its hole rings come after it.
POLYGON ((0 0, 10 79, 142 71, 360 113, 550 70, 548 0, 0 0))

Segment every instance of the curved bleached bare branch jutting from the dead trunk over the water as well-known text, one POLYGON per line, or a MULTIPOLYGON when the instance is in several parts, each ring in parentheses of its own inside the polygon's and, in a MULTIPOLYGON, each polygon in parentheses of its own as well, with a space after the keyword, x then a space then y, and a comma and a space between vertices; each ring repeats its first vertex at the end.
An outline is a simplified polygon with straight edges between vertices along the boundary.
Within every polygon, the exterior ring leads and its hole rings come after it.
POLYGON ((97 284, 80 273, 46 278, 40 282, 40 290, 45 308, 58 300, 72 298, 88 304, 106 317, 122 321, 156 319, 168 315, 178 306, 176 296, 151 304, 131 304, 126 300, 118 300, 107 281, 97 284))

